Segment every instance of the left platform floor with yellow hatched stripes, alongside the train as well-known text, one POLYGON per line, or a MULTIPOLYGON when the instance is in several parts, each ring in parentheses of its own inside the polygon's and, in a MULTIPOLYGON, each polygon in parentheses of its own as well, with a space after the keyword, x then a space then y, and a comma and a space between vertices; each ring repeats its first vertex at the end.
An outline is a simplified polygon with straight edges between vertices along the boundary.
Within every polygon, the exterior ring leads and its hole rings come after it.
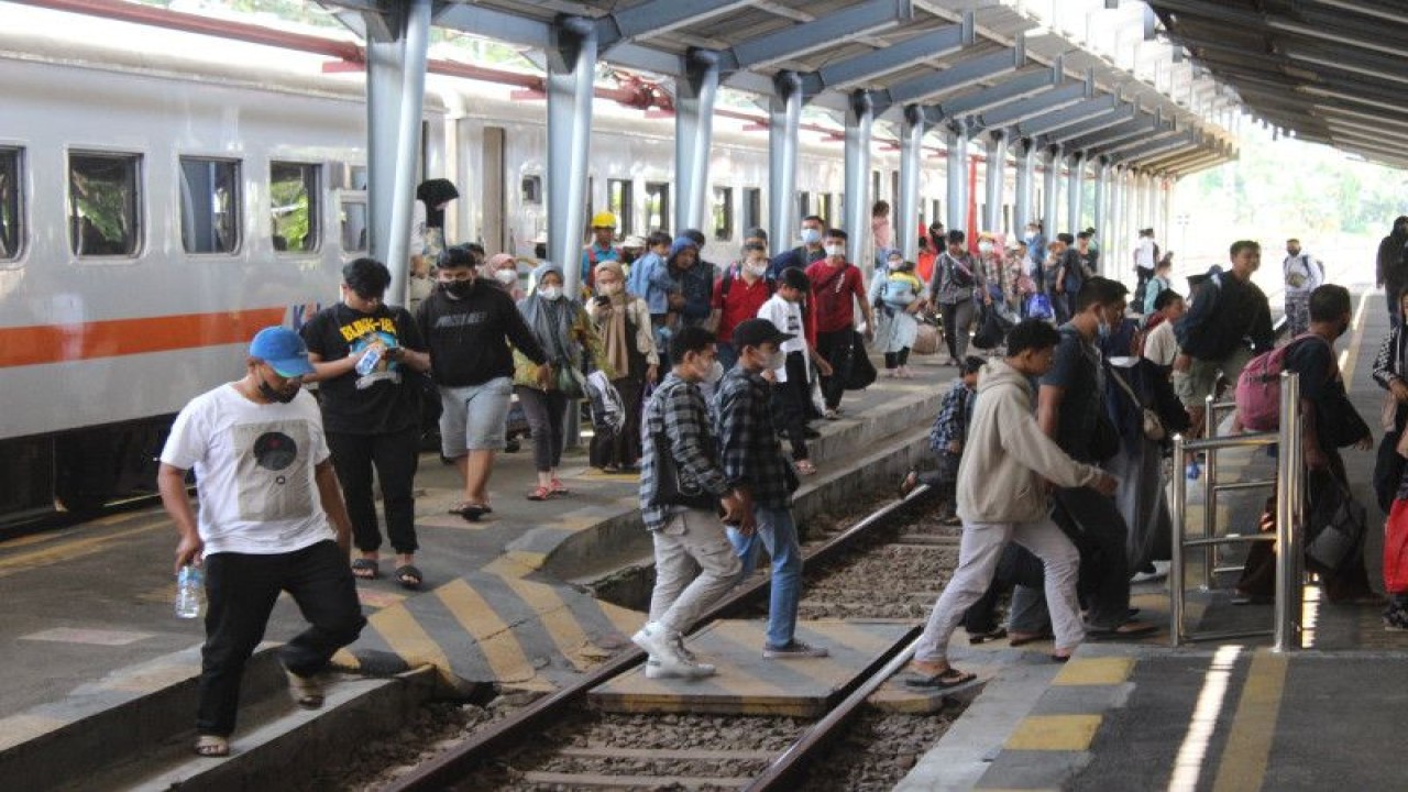
MULTIPOLYGON (((917 358, 914 379, 881 378, 848 393, 842 420, 815 423, 821 438, 810 445, 819 472, 804 479, 794 506, 804 530, 810 519, 891 493, 926 454, 955 373, 938 361, 917 358)), ((629 643, 643 613, 594 598, 587 583, 650 561, 638 476, 587 468, 584 451, 569 451, 560 478, 572 495, 529 502, 531 457, 527 447, 498 457, 494 513, 469 523, 448 513, 460 493, 455 469, 422 455, 417 565, 425 585, 397 586, 389 575, 394 557, 383 548, 382 578, 358 582, 369 627, 335 665, 363 676, 420 671, 418 689, 428 683, 441 693, 535 695, 629 643)), ((199 620, 172 613, 173 550, 175 530, 159 506, 0 543, 0 776, 14 751, 62 743, 120 707, 162 696, 193 706, 189 691, 184 699, 175 692, 199 675, 204 633, 199 620)), ((303 624, 282 598, 266 638, 284 640, 303 624)), ((179 712, 187 727, 193 709, 182 706, 161 712, 179 712)), ((107 720, 106 729, 122 727, 122 719, 107 720)))

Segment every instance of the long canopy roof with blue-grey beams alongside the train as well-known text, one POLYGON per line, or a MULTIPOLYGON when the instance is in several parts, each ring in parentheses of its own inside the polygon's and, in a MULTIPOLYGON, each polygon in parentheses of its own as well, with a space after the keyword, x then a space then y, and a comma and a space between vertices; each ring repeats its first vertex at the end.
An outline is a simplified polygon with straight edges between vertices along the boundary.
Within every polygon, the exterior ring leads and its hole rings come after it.
MULTIPOLYGON (((365 35, 384 3, 322 0, 365 35)), ((1235 97, 1159 41, 1143 3, 1115 0, 441 0, 441 28, 527 51, 555 25, 596 30, 615 70, 680 78, 717 58, 725 87, 767 97, 801 79, 805 101, 843 113, 867 92, 876 117, 922 109, 932 128, 1001 131, 1087 161, 1181 176, 1236 156, 1235 97), (1039 6, 1031 8, 1028 6, 1039 6)))

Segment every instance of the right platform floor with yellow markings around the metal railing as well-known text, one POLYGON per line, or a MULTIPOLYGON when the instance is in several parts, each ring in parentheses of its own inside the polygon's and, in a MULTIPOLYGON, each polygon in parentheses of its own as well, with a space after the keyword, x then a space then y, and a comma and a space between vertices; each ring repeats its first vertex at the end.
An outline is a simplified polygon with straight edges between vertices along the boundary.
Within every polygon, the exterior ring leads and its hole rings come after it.
MULTIPOLYGON (((1370 373, 1388 316, 1381 292, 1352 292, 1354 323, 1338 342, 1339 362, 1378 434, 1383 390, 1370 373)), ((1352 492, 1369 509, 1364 558, 1381 588, 1374 452, 1342 452, 1352 492)), ((1224 451, 1219 465, 1219 481, 1274 475, 1264 451, 1224 451)), ((1190 536, 1201 521, 1194 483, 1190 536)), ((1266 495, 1222 495, 1219 533, 1255 531, 1266 495)), ((1233 603, 1235 575, 1209 590, 1201 581, 1194 564, 1186 581, 1193 634, 1270 630, 1270 605, 1233 603)), ((1302 648, 1284 654, 1269 637, 1170 647, 1167 581, 1136 585, 1131 603, 1164 630, 1138 643, 1086 643, 1064 665, 1046 660, 1050 643, 969 647, 960 633, 955 665, 991 681, 897 789, 1401 789, 1390 757, 1408 727, 1408 633, 1385 631, 1380 606, 1322 600, 1318 585, 1304 598, 1302 648)))

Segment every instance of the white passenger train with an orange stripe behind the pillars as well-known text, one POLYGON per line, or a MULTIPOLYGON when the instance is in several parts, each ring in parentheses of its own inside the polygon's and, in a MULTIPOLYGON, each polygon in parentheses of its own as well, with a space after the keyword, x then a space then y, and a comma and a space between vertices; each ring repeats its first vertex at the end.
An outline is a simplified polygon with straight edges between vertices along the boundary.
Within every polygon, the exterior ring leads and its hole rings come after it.
MULTIPOLYGON (((238 376, 255 330, 337 300, 342 265, 366 255, 360 75, 99 24, 0 31, 0 524, 151 493, 182 404, 238 376)), ((594 116, 587 216, 614 211, 622 237, 670 230, 673 120, 605 100, 594 116)), ((718 262, 767 225, 767 135, 736 116, 711 152, 718 262)), ((422 132, 420 175, 460 192, 446 240, 531 256, 543 103, 432 76, 422 132)), ((893 203, 898 152, 874 148, 873 197, 893 203)), ((925 159, 926 217, 942 217, 941 165, 925 159)), ((842 217, 842 144, 804 132, 798 216, 842 217)))

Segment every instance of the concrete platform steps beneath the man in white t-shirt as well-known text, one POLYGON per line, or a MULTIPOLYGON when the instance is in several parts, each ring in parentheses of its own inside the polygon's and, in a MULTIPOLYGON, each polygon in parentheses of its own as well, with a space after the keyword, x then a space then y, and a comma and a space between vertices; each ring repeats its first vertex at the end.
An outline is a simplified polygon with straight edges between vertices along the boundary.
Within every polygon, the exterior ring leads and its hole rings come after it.
POLYGON ((124 669, 84 691, 65 706, 73 720, 0 751, 0 778, 7 789, 286 789, 317 782, 321 768, 335 764, 353 745, 397 730, 434 691, 434 671, 372 679, 332 674, 327 702, 304 710, 289 696, 275 652, 265 645, 245 669, 239 727, 230 758, 204 758, 191 751, 199 678, 197 651, 187 650, 153 664, 124 669), (180 679, 135 691, 125 702, 100 689, 141 686, 142 672, 187 668, 180 679), (90 707, 84 699, 94 699, 90 707), (92 709, 90 712, 82 712, 92 709), (313 761, 310 761, 313 757, 313 761))

